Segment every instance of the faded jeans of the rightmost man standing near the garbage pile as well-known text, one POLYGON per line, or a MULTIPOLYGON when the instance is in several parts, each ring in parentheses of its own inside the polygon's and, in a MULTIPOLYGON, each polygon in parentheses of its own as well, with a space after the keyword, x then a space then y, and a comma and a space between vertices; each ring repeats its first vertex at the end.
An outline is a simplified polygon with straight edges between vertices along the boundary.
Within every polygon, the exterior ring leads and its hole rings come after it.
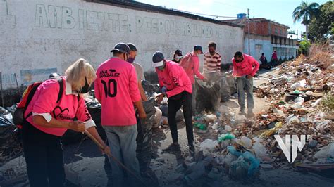
POLYGON ((247 108, 253 110, 253 78, 237 77, 237 103, 240 105, 240 110, 245 110, 245 91, 247 93, 247 108))

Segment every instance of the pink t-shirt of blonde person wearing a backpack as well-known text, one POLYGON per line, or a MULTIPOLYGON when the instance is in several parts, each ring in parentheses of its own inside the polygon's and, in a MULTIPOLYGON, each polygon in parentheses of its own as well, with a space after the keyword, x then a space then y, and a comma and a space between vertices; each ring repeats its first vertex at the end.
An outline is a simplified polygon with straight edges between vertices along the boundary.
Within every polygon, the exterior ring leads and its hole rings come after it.
MULTIPOLYGON (((69 94, 66 95, 66 82, 65 78, 63 79, 63 96, 61 100, 57 102, 58 93, 59 93, 59 83, 56 79, 49 79, 44 81, 41 85, 38 86, 32 101, 30 101, 27 110, 25 110, 25 116, 30 112, 42 114, 48 113, 56 120, 72 122, 74 117, 77 117, 78 120, 82 122, 87 122, 92 117, 90 116, 85 101, 80 97, 78 101, 78 96, 69 94)), ((27 118, 27 122, 30 122, 32 126, 37 129, 55 136, 63 136, 66 132, 66 128, 49 128, 42 127, 38 124, 32 122, 32 115, 27 118)))

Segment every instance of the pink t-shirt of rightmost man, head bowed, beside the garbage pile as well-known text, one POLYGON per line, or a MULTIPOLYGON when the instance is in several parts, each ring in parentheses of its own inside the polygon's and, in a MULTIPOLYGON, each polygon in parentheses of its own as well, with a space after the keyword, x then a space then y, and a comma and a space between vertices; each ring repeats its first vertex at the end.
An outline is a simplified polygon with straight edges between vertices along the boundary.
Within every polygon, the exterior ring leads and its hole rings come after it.
POLYGON ((244 75, 254 76, 259 70, 260 64, 252 56, 243 54, 244 60, 240 63, 236 63, 235 59, 232 58, 233 63, 233 76, 241 77, 244 75))

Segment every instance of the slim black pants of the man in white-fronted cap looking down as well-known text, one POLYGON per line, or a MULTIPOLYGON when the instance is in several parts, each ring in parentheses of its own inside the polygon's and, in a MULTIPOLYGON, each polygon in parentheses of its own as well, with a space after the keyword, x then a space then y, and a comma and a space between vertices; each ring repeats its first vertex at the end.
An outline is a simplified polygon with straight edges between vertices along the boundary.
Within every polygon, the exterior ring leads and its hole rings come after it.
POLYGON ((188 144, 194 143, 192 131, 192 94, 183 91, 180 95, 168 98, 168 123, 171 129, 173 142, 178 142, 178 127, 176 126, 176 112, 183 107, 185 117, 185 130, 187 131, 188 144))

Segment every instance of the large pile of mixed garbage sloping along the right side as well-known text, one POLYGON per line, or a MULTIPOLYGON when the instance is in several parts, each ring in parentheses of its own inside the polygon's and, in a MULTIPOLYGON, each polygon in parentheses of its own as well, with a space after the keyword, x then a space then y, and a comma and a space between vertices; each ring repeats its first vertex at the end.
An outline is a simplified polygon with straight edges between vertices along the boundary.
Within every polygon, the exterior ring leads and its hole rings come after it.
POLYGON ((286 159, 273 135, 282 138, 285 135, 307 135, 307 145, 296 161, 326 163, 334 168, 332 69, 333 65, 321 70, 317 65, 296 61, 280 65, 277 76, 270 77, 267 84, 256 90, 257 96, 271 102, 271 107, 257 115, 254 121, 237 127, 237 134, 263 138, 271 155, 281 161, 286 159), (325 150, 326 153, 321 153, 325 150))

